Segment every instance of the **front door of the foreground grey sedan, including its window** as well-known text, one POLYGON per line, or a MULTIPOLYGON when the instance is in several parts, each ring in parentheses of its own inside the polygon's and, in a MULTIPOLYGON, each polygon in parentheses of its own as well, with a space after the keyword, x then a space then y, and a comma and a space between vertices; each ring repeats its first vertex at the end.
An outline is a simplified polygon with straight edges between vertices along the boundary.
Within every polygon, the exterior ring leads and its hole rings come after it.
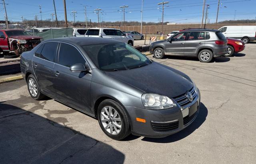
POLYGON ((70 71, 70 66, 77 63, 84 65, 86 63, 80 51, 73 45, 61 43, 58 63, 54 65, 56 97, 64 103, 91 113, 90 84, 92 75, 70 71))

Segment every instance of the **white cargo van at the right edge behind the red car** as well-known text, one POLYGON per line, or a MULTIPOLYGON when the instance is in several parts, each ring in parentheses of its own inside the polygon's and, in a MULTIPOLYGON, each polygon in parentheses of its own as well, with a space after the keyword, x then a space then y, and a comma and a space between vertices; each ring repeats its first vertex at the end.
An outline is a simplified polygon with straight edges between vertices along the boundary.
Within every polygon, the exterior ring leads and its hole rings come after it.
POLYGON ((219 29, 227 38, 235 38, 249 43, 256 40, 256 26, 223 26, 219 29))

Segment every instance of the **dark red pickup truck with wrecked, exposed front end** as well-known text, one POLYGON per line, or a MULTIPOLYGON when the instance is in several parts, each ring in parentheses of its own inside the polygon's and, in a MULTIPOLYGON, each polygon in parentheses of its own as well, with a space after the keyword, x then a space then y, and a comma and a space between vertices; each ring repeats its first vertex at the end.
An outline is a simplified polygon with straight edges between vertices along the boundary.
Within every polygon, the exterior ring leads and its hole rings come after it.
POLYGON ((2 29, 0 30, 0 52, 3 52, 5 56, 15 54, 19 57, 22 52, 30 51, 38 45, 41 39, 24 30, 2 29))

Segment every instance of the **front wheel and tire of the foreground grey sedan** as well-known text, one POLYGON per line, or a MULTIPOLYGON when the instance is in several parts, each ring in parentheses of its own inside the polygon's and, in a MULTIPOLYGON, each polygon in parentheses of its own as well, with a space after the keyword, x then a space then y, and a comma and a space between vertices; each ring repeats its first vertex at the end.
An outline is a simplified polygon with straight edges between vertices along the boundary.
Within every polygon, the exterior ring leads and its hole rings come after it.
POLYGON ((100 103, 98 121, 103 132, 114 140, 122 140, 131 133, 129 119, 124 108, 114 100, 106 99, 100 103), (109 111, 112 111, 110 117, 109 111))

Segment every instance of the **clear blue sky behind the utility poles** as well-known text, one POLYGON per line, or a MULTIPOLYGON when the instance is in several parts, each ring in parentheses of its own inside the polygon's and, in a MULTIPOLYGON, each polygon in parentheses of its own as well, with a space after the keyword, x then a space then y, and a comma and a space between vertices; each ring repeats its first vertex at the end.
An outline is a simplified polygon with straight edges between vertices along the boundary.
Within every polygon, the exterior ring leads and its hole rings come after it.
MULTIPOLYGON (((166 0, 164 9, 164 22, 174 23, 199 23, 202 19, 203 0, 166 0)), ((2 2, 2 1, 1 1, 2 2)), ((144 0, 143 21, 159 22, 162 19, 162 10, 158 9, 158 3, 162 0, 144 0)), ((39 5, 42 7, 42 20, 52 18, 54 13, 53 0, 5 0, 8 20, 11 22, 22 21, 21 16, 27 20, 33 20, 35 15, 40 17, 39 5)), ((256 0, 220 0, 218 21, 256 18, 256 0), (236 14, 235 14, 236 13, 236 14)), ((218 0, 206 0, 209 4, 208 19, 210 23, 216 22, 218 0)), ((98 22, 94 9, 102 9, 100 20, 122 21, 123 12, 120 6, 126 5, 125 21, 141 20, 142 0, 66 0, 67 18, 73 21, 72 11, 76 11, 76 22, 85 21, 85 10, 88 20, 98 22)), ((58 20, 64 20, 63 0, 55 0, 58 20)), ((4 20, 4 6, 0 4, 0 20, 4 20)))

